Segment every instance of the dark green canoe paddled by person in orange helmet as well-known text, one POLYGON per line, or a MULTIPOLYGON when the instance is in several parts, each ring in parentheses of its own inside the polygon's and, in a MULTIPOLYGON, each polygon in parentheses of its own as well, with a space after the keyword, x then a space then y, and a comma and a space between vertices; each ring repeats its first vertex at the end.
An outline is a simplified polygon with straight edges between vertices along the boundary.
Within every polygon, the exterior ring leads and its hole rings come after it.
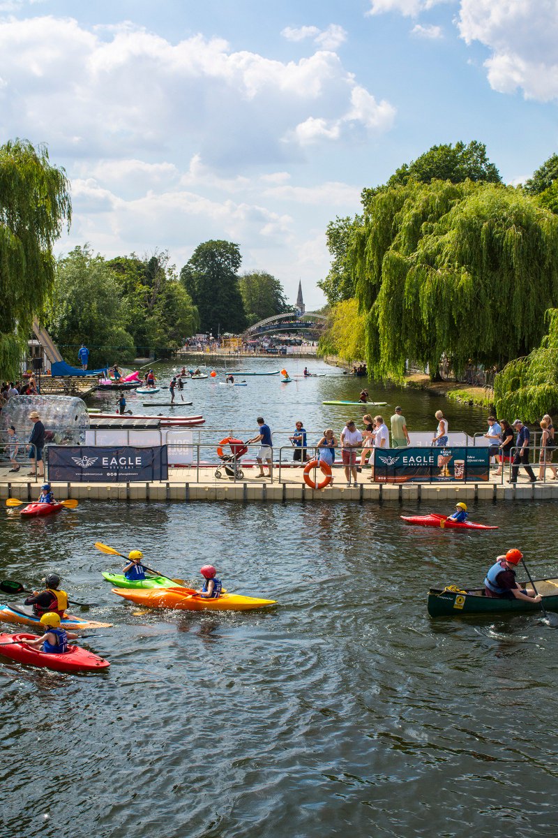
MULTIPOLYGON (((526 591, 532 590, 530 582, 520 582, 526 591)), ((453 586, 452 586, 453 587, 453 586)), ((558 611, 558 579, 535 579, 535 587, 547 611, 558 611)), ((499 599, 487 597, 483 588, 470 591, 443 590, 431 587, 428 592, 428 613, 431 617, 461 617, 483 614, 542 613, 540 603, 527 603, 525 599, 499 599)))

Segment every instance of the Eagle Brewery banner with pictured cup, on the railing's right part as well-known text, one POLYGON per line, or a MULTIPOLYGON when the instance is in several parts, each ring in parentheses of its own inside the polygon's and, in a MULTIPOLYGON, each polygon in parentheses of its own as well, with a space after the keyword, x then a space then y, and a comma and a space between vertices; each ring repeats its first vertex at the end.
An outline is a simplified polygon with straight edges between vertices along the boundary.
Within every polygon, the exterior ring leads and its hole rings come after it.
POLYGON ((488 447, 374 448, 375 483, 475 483, 489 473, 488 447))

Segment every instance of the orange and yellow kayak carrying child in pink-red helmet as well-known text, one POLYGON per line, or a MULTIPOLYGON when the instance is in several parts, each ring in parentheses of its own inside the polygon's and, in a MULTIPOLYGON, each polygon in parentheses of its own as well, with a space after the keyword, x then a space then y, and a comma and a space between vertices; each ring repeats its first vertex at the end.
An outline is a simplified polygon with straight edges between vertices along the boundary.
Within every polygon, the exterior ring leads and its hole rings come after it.
POLYGON ((145 608, 178 608, 182 611, 250 611, 252 608, 269 608, 274 599, 241 597, 236 593, 223 593, 217 599, 207 599, 192 594, 191 588, 155 587, 148 590, 113 587, 113 593, 145 608))

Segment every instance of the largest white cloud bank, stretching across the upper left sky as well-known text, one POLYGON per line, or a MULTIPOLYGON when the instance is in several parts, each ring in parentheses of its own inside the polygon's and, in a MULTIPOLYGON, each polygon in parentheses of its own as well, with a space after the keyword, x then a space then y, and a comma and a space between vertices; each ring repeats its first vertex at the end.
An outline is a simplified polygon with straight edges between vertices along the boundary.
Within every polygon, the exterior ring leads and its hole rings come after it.
MULTIPOLYGON (((199 34, 171 44, 131 23, 88 29, 54 17, 0 21, 0 78, 4 131, 17 124, 19 136, 104 159, 160 155, 176 137, 191 156, 202 137, 204 160, 223 168, 297 158, 308 120, 323 126, 310 127, 314 142, 342 138, 358 86, 330 50, 282 62, 199 34)), ((351 119, 366 131, 391 125, 351 119)))

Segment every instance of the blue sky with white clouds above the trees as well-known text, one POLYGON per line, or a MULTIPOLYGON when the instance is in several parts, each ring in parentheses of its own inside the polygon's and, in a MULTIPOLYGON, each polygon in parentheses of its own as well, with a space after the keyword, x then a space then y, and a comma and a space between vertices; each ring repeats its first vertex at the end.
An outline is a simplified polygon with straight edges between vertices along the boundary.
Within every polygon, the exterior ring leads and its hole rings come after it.
POLYGON ((57 252, 238 244, 325 302, 325 230, 434 144, 505 183, 558 145, 556 0, 0 0, 0 144, 71 182, 57 252))

